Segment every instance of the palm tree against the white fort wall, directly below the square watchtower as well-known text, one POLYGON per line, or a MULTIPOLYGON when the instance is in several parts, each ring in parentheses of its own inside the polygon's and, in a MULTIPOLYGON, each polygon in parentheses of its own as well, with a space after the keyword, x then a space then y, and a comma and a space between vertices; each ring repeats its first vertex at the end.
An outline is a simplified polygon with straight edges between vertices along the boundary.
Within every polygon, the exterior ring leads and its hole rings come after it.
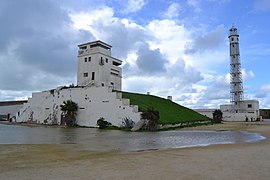
POLYGON ((64 112, 64 119, 67 126, 74 126, 76 122, 76 114, 78 110, 78 104, 72 100, 64 101, 60 105, 61 111, 64 112))

